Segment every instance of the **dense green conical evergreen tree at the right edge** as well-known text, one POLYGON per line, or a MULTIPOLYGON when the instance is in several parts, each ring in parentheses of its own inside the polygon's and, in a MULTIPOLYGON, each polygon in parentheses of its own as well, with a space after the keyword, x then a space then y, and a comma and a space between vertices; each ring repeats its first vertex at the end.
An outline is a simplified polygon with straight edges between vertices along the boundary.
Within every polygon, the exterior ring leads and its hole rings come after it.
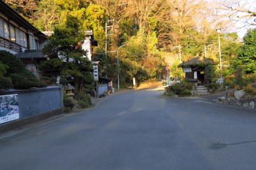
POLYGON ((256 29, 248 29, 243 38, 244 44, 237 56, 234 67, 246 66, 246 73, 256 72, 256 29))

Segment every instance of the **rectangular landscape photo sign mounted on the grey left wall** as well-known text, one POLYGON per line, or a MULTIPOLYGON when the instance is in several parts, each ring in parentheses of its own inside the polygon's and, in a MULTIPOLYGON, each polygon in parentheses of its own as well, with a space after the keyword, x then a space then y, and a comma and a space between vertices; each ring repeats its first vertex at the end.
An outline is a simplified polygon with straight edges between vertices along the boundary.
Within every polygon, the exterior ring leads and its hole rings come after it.
POLYGON ((19 119, 18 94, 0 96, 0 124, 19 119))

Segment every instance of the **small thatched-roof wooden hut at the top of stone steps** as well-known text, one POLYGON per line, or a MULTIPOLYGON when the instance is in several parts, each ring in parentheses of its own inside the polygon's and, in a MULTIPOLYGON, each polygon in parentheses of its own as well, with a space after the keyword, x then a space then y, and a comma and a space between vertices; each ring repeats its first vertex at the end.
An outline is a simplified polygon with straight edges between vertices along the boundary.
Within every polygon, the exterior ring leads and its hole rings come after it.
POLYGON ((197 85, 207 86, 209 81, 205 78, 205 67, 215 64, 212 59, 203 57, 195 57, 186 62, 179 64, 183 72, 186 73, 186 78, 197 85))

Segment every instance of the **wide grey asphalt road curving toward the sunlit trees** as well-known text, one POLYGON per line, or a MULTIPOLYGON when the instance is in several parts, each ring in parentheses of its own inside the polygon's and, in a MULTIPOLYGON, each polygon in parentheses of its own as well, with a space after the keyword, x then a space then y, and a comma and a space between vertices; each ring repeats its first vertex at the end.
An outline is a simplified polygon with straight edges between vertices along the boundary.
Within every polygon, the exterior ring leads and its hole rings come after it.
POLYGON ((163 92, 120 92, 12 132, 0 139, 0 169, 256 169, 255 110, 163 92))

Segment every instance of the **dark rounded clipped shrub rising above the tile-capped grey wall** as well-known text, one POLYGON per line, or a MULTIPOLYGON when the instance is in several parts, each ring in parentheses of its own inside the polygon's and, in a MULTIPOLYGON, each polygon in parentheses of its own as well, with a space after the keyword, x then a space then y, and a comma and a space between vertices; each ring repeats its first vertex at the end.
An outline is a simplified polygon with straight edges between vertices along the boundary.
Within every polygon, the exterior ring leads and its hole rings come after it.
MULTIPOLYGON (((5 50, 0 50, 0 61, 6 64, 6 77, 10 77, 12 80, 13 88, 26 89, 29 87, 46 87, 47 84, 39 81, 36 76, 25 68, 20 59, 17 59, 15 55, 5 50)), ((8 81, 10 84, 10 81, 8 81)), ((10 87, 10 86, 8 86, 10 87)))

